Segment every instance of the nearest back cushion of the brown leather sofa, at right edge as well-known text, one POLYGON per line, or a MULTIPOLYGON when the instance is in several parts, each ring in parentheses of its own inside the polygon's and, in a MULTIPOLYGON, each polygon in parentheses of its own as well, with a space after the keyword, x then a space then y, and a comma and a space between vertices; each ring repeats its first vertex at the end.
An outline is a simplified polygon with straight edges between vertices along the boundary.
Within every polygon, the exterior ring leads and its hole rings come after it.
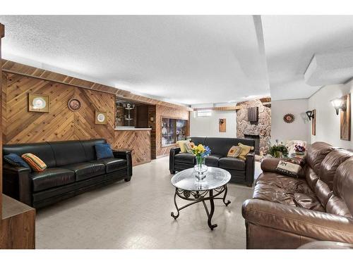
POLYGON ((347 206, 353 215, 353 157, 338 166, 333 180, 333 194, 342 200, 340 208, 344 210, 347 206))

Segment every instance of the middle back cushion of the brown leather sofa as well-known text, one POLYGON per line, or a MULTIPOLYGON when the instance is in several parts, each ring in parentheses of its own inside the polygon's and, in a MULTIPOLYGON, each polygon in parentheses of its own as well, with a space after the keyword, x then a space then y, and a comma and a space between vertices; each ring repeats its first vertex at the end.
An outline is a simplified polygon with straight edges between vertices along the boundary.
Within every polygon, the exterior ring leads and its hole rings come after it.
POLYGON ((345 149, 333 149, 333 151, 330 151, 330 153, 328 153, 323 159, 318 177, 320 180, 328 184, 328 187, 330 187, 331 190, 333 189, 333 178, 335 177, 338 166, 350 156, 353 156, 351 151, 345 149))

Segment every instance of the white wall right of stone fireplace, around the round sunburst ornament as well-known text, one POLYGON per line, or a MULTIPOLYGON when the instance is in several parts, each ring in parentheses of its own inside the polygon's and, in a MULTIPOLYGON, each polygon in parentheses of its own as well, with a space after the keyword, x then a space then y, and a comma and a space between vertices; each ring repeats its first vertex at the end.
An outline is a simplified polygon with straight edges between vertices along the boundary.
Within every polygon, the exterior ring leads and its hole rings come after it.
POLYGON ((311 123, 306 117, 309 110, 308 99, 280 100, 271 102, 271 142, 297 139, 310 142, 311 123), (287 123, 283 117, 287 113, 294 115, 294 122, 287 123))

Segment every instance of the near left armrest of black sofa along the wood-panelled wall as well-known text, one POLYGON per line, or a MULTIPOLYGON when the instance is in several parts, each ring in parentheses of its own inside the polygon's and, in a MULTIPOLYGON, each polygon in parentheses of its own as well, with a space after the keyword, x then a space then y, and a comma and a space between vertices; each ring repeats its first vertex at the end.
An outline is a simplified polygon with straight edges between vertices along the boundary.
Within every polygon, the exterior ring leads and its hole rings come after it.
POLYGON ((32 206, 32 180, 30 169, 3 164, 4 194, 32 206))

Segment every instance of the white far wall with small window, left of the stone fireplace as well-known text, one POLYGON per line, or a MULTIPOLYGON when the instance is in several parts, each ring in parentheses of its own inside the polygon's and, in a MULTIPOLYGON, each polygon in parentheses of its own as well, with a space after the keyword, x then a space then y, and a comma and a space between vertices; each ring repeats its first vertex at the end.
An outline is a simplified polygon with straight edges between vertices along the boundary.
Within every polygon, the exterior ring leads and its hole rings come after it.
POLYGON ((237 113, 235 111, 212 111, 211 116, 194 117, 190 113, 191 137, 237 137, 237 113), (220 118, 226 118, 226 132, 218 132, 220 118))

